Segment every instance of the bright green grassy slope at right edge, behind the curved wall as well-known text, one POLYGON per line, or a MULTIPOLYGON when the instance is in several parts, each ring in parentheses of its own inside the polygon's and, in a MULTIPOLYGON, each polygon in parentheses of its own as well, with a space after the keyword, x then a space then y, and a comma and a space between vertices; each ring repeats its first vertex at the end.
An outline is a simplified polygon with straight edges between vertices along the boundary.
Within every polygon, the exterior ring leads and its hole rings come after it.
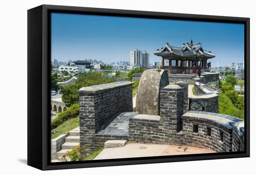
POLYGON ((231 115, 240 119, 244 119, 244 110, 236 108, 232 101, 224 93, 219 95, 219 113, 231 115))

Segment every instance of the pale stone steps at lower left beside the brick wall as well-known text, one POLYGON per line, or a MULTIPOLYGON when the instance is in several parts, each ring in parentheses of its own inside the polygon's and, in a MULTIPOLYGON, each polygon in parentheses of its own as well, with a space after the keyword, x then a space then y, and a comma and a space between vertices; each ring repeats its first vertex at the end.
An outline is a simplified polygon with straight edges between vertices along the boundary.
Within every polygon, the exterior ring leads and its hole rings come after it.
MULTIPOLYGON (((65 138, 65 143, 61 145, 61 150, 57 152, 58 158, 67 154, 68 151, 72 150, 72 148, 79 145, 80 135, 79 127, 71 130, 67 133, 67 137, 65 138)), ((59 160, 54 159, 51 162, 59 162, 59 160)))

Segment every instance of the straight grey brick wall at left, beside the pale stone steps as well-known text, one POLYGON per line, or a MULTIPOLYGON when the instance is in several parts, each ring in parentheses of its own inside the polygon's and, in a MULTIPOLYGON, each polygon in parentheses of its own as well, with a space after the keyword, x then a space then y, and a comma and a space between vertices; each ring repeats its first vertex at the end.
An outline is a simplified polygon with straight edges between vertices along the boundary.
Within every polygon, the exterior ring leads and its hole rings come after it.
POLYGON ((132 111, 132 82, 119 81, 81 88, 79 92, 80 144, 93 151, 95 134, 119 112, 132 111))

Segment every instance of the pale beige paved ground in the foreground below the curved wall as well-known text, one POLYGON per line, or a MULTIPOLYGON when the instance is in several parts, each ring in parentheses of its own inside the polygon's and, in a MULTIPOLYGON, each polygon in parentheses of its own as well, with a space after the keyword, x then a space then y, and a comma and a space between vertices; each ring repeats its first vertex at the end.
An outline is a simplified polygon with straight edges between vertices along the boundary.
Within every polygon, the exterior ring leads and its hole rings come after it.
POLYGON ((214 150, 189 147, 185 152, 178 152, 176 149, 179 146, 166 144, 136 144, 127 143, 124 147, 119 148, 105 148, 101 153, 94 158, 99 159, 115 159, 115 158, 129 158, 129 157, 146 157, 146 156, 171 156, 182 154, 202 154, 215 153, 214 150))

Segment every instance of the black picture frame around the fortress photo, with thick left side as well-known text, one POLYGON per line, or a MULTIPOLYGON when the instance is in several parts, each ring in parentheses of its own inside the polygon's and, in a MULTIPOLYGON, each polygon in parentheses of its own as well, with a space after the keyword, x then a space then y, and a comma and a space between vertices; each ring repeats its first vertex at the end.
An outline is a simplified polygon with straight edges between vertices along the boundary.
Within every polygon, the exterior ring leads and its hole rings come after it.
POLYGON ((41 170, 249 157, 249 18, 146 12, 76 6, 41 5, 27 11, 27 164, 41 170), (50 13, 91 14, 148 19, 175 19, 244 24, 245 151, 155 156, 81 162, 50 162, 50 13))

